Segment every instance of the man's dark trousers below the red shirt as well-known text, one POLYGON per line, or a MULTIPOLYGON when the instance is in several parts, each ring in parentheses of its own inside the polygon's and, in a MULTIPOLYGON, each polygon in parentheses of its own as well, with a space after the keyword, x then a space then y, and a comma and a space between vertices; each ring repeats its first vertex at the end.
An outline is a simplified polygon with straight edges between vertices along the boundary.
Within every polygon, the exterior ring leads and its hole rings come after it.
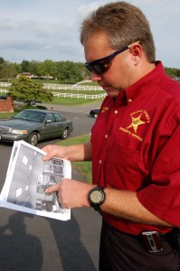
POLYGON ((137 238, 103 221, 99 271, 180 271, 180 257, 167 242, 162 245, 163 251, 148 252, 137 238))

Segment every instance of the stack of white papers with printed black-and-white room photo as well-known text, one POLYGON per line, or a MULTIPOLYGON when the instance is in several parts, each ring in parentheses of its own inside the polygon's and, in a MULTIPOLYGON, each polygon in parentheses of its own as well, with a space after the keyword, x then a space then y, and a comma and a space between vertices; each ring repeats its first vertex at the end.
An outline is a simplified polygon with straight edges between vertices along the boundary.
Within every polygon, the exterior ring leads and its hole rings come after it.
POLYGON ((44 190, 63 178, 71 178, 71 163, 58 158, 43 162, 44 154, 23 140, 14 142, 0 206, 70 220, 71 210, 62 208, 55 192, 46 194, 44 190))

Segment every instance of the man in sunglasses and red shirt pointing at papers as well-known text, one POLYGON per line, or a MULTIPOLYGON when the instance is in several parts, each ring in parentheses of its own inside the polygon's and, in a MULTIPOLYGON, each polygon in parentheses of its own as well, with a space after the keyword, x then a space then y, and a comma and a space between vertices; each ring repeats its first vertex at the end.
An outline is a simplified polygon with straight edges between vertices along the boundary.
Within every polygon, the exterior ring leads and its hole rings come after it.
POLYGON ((90 142, 48 145, 47 155, 92 160, 92 185, 63 180, 66 208, 93 207, 102 216, 99 270, 180 270, 172 229, 180 226, 180 85, 155 61, 144 14, 117 2, 81 25, 91 79, 108 96, 90 142))

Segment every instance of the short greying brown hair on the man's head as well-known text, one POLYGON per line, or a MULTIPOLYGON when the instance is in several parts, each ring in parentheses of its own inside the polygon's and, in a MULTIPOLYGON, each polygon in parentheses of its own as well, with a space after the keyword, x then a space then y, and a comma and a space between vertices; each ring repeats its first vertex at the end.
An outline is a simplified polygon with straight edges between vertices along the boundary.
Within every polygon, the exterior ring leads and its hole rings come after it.
POLYGON ((108 33, 109 47, 114 50, 139 41, 147 61, 155 62, 153 35, 145 14, 137 6, 126 2, 100 6, 81 23, 81 44, 84 45, 93 33, 98 32, 108 33))

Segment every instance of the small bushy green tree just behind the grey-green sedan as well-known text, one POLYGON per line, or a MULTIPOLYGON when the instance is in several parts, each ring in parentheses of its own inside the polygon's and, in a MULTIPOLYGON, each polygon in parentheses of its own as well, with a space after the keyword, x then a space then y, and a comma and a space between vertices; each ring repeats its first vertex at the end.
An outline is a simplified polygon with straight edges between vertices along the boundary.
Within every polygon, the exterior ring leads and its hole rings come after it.
POLYGON ((13 99, 24 100, 27 104, 35 99, 39 102, 52 101, 52 92, 43 89, 43 84, 25 76, 12 80, 8 95, 13 99))

